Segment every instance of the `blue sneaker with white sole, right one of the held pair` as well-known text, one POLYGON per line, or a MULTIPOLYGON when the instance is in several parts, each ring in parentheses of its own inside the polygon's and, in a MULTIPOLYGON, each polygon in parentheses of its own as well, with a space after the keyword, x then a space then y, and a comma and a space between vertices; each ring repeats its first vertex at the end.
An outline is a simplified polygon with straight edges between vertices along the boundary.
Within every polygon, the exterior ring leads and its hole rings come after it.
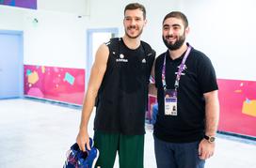
POLYGON ((99 158, 100 152, 96 147, 92 147, 91 150, 87 151, 87 154, 82 154, 78 158, 79 168, 94 168, 99 158))

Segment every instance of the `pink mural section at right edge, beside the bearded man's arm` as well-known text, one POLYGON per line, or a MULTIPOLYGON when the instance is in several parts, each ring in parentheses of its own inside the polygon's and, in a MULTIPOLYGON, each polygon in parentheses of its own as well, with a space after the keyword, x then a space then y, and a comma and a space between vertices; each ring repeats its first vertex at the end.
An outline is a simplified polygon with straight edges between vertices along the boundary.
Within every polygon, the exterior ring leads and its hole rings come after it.
POLYGON ((256 82, 218 79, 218 130, 256 137, 256 82))

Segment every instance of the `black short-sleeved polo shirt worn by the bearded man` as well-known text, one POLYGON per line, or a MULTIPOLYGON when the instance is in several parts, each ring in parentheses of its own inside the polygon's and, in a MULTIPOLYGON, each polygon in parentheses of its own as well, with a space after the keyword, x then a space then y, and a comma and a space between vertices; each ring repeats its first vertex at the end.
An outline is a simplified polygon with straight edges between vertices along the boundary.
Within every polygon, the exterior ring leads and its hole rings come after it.
POLYGON ((205 101, 203 93, 217 90, 216 72, 210 59, 192 48, 189 53, 178 88, 178 115, 165 115, 162 69, 165 54, 166 83, 168 89, 174 89, 175 72, 182 63, 184 54, 172 60, 169 53, 162 53, 155 63, 155 83, 158 89, 158 115, 154 125, 154 135, 167 142, 188 143, 200 140, 205 129, 205 101))

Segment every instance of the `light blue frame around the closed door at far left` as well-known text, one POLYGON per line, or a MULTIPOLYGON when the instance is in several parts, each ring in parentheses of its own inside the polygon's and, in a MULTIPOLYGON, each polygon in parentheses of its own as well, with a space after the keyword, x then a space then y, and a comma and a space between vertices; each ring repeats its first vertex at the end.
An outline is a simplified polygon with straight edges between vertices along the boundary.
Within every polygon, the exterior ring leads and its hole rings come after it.
MULTIPOLYGON (((21 47, 21 53, 19 54, 19 94, 18 98, 24 98, 24 32, 19 30, 1 30, 1 35, 14 35, 19 37, 19 44, 21 47)), ((17 98, 17 97, 15 97, 17 98)), ((5 99, 5 98, 4 98, 5 99)), ((13 99, 13 98, 7 98, 13 99)))

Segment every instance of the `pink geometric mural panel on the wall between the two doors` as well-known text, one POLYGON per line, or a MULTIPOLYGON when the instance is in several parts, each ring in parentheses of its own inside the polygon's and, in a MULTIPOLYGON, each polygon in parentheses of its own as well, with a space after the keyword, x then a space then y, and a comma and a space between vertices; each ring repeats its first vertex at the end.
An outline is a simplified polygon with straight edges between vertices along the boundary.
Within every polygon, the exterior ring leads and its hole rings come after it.
POLYGON ((81 105, 85 69, 24 65, 24 95, 81 105))

